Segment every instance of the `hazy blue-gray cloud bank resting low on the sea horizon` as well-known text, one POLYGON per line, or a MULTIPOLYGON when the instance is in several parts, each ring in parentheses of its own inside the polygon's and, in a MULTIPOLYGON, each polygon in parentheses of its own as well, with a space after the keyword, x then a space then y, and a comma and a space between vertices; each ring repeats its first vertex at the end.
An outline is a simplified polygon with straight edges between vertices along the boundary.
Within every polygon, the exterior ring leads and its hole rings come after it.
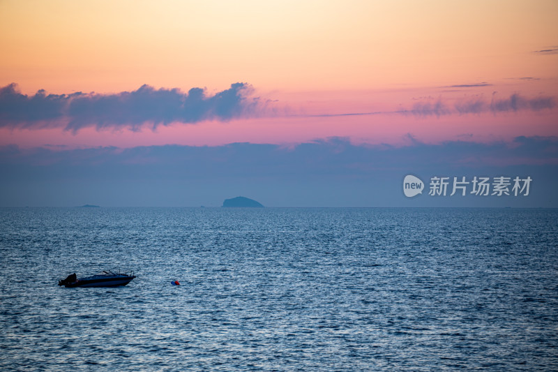
POLYGON ((0 147, 0 174, 0 207, 219 206, 231 195, 278 207, 486 207, 504 202, 558 207, 558 138, 425 144, 409 135, 404 147, 356 145, 337 137, 291 148, 250 143, 130 149, 8 146, 0 147), (502 175, 534 181, 529 198, 425 196, 409 201, 401 191, 405 174, 423 181, 502 175))

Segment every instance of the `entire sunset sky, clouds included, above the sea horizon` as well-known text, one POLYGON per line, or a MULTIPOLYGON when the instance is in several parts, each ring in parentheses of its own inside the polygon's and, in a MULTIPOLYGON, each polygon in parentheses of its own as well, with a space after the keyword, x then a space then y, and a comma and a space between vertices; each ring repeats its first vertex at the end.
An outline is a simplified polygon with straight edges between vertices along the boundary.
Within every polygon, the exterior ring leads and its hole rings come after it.
POLYGON ((0 207, 558 207, 557 16, 2 0, 0 207))

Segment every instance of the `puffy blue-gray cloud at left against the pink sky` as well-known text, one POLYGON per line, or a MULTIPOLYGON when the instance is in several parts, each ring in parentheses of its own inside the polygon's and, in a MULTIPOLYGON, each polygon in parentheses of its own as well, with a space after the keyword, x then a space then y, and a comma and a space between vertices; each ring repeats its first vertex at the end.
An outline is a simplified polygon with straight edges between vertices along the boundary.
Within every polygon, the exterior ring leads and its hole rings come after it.
POLYGON ((154 89, 143 85, 117 94, 20 93, 16 84, 0 88, 0 126, 8 128, 63 127, 68 131, 94 126, 131 128, 148 124, 155 128, 172 122, 197 123, 249 117, 259 108, 258 98, 248 98, 250 85, 232 84, 229 89, 207 96, 204 89, 188 93, 179 89, 154 89))

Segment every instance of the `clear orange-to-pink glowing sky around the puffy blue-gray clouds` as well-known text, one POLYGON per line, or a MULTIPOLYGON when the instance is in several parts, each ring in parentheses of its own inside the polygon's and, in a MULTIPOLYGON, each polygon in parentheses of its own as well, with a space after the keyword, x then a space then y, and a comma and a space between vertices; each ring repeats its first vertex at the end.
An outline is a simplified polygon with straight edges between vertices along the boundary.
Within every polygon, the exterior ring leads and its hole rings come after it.
POLYGON ((208 94, 248 82, 296 117, 144 130, 1 129, 0 144, 356 142, 558 135, 557 110, 446 119, 386 115, 418 100, 558 97, 558 2, 1 1, 0 87, 24 94, 131 91, 142 84, 208 94), (550 50, 551 52, 538 52, 550 50), (526 79, 529 78, 529 79, 526 79), (452 87, 487 84, 485 87, 452 87), (502 121, 509 123, 506 125, 502 121), (511 130, 510 128, 514 128, 511 130), (444 135, 442 135, 444 133, 444 135))

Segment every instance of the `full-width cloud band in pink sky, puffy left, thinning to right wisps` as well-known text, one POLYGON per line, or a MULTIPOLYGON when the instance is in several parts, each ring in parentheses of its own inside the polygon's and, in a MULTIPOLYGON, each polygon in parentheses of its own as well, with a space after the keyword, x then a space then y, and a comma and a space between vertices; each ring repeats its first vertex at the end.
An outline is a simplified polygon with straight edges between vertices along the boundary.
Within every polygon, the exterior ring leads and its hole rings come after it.
MULTIPOLYGON (((452 87, 481 87, 487 83, 454 85, 452 87)), ((490 85, 490 84, 488 84, 490 85)), ((379 114, 405 114, 416 117, 442 117, 454 114, 484 112, 540 111, 556 107, 554 97, 527 98, 512 94, 507 98, 492 95, 491 101, 482 96, 448 101, 443 98, 418 101, 408 110, 345 112, 340 114, 296 115, 269 109, 259 98, 251 98, 252 87, 246 83, 232 84, 229 89, 207 96, 204 89, 193 88, 188 93, 179 89, 154 89, 143 85, 135 91, 118 94, 46 94, 33 96, 20 93, 16 84, 0 88, 0 127, 4 128, 64 128, 77 132, 81 128, 129 128, 137 131, 144 126, 156 128, 173 122, 195 124, 199 121, 273 116, 350 117, 379 114)))

